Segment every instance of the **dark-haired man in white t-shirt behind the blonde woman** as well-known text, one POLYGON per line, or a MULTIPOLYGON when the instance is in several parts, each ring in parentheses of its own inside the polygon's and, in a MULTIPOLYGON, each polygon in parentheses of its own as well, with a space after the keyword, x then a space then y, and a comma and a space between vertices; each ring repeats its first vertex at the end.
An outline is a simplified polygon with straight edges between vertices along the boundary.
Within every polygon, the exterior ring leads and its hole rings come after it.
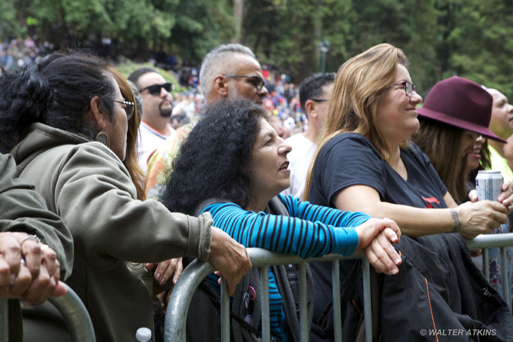
POLYGON ((326 122, 328 100, 333 89, 334 73, 316 73, 305 79, 299 88, 301 109, 308 117, 308 128, 285 141, 292 146, 287 154, 290 164, 291 185, 282 191, 283 195, 301 197, 305 189, 306 176, 317 150, 317 138, 326 122))

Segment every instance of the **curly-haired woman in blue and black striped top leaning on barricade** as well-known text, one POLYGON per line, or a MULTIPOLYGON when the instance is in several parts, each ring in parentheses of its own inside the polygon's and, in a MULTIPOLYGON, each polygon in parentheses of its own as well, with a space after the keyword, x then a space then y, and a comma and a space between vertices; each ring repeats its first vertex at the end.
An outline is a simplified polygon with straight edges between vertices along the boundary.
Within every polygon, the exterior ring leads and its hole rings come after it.
MULTIPOLYGON (((390 242, 398 241, 400 231, 392 220, 314 206, 292 196, 279 195, 290 186, 287 153, 291 147, 268 123, 262 107, 248 100, 222 100, 209 105, 203 115, 173 160, 174 171, 161 197, 170 211, 191 215, 209 211, 216 227, 246 247, 261 247, 302 258, 328 253, 351 255, 357 249, 364 249, 379 271, 397 273, 396 264, 401 259, 390 242), (380 259, 377 255, 383 256, 380 259)), ((271 335, 279 340, 299 340, 297 307, 290 301, 295 297, 289 274, 285 266, 269 269, 271 335)), ((255 333, 259 328, 260 315, 254 310, 260 306, 239 303, 246 289, 257 289, 249 292, 260 295, 260 281, 258 272, 245 278, 232 302, 232 308, 239 308, 234 314, 240 318, 233 324, 232 333, 235 340, 249 341, 252 339, 249 332, 255 333), (240 324, 243 317, 246 326, 240 324)), ((218 277, 210 275, 209 280, 216 286, 218 277)), ((311 281, 308 283, 308 289, 312 290, 311 281)), ((207 305, 208 300, 198 307, 207 305)), ((311 309, 308 321, 311 321, 311 309)), ((198 319, 208 316, 208 323, 214 324, 212 315, 202 311, 198 316, 188 319, 196 327, 187 331, 191 340, 207 338, 200 335, 203 329, 197 329, 198 319)), ((205 329, 210 335, 211 331, 205 329)))

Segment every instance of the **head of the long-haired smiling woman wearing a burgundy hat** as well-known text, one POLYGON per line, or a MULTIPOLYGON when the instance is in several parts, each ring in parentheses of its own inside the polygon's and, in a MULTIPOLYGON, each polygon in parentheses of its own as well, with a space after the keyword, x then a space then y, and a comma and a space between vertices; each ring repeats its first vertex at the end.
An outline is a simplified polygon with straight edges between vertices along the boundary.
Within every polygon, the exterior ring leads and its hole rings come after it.
POLYGON ((488 129, 491 106, 492 97, 481 86, 453 76, 438 82, 418 109, 420 129, 412 139, 429 157, 457 203, 467 197, 466 158, 478 162, 481 158, 475 153, 476 142, 482 143, 486 137, 505 143, 488 129))

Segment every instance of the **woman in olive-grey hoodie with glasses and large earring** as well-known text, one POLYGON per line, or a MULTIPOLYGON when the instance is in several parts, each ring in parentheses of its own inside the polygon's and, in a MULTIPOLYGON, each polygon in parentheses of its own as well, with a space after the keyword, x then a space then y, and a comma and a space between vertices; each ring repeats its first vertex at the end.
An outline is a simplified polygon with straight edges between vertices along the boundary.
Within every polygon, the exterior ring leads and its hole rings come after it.
MULTIPOLYGON (((0 76, 0 150, 10 151, 16 176, 35 184, 71 231, 67 284, 84 301, 96 339, 115 342, 153 327, 151 297, 164 281, 155 274, 159 284, 153 282, 145 262, 209 259, 228 276, 230 292, 251 263, 208 214, 170 213, 155 200, 136 199, 122 163, 133 103, 109 68, 94 56, 60 53, 0 76)), ((52 315, 45 325, 58 319, 52 315)), ((35 340, 63 339, 40 333, 35 340)))

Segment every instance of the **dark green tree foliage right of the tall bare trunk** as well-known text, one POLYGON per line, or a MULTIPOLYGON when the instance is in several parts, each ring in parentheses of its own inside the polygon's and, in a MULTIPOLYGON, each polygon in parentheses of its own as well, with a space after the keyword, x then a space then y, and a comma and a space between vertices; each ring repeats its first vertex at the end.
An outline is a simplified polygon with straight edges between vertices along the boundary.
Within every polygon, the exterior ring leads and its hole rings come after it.
POLYGON ((243 43, 300 82, 369 47, 390 43, 410 61, 421 95, 452 75, 513 94, 511 0, 246 0, 243 43))

